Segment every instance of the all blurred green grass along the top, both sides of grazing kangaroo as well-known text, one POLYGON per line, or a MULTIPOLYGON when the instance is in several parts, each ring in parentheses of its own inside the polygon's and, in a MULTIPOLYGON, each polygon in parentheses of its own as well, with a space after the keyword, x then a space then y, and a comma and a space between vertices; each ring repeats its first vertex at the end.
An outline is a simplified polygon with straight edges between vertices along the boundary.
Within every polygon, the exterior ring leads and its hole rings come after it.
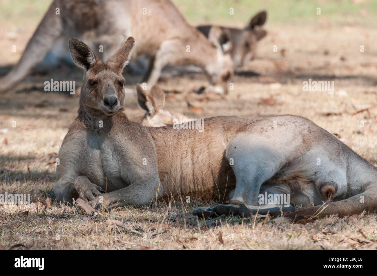
MULTIPOLYGON (((252 15, 267 10, 268 24, 310 24, 318 19, 337 24, 375 25, 376 0, 172 0, 191 24, 242 27, 252 15), (234 9, 234 15, 229 9, 234 9), (316 9, 321 8, 321 15, 316 9)), ((37 24, 52 0, 0 0, 0 18, 37 24)))

